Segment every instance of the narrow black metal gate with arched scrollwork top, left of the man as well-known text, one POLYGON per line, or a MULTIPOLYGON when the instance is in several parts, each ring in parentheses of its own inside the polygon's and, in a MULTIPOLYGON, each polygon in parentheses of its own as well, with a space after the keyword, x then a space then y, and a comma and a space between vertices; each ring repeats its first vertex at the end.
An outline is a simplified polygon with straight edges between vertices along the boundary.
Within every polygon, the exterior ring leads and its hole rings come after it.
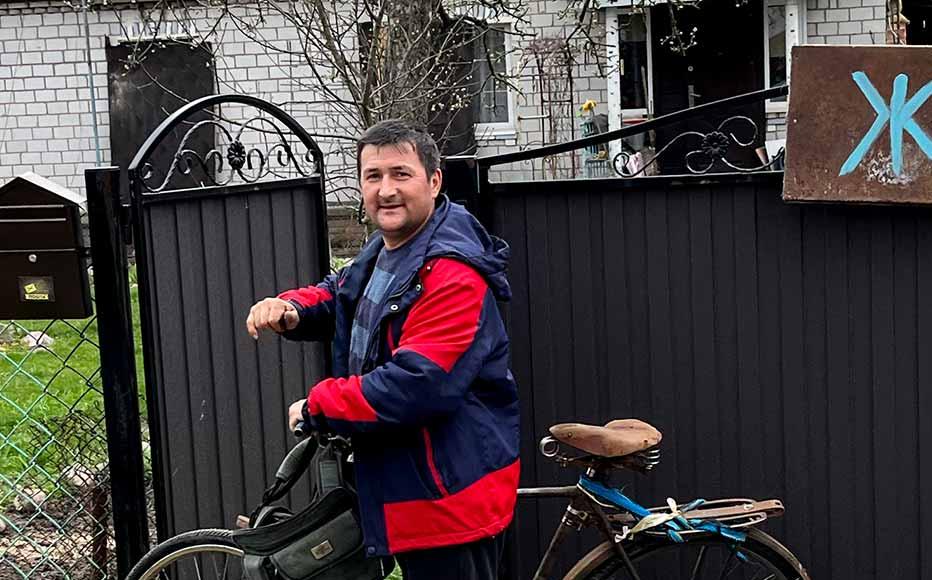
POLYGON ((288 404, 327 370, 324 346, 245 331, 258 298, 329 271, 323 158, 277 107, 212 96, 166 119, 129 175, 159 537, 229 527, 289 446, 288 404), (187 149, 204 131, 220 146, 187 149))

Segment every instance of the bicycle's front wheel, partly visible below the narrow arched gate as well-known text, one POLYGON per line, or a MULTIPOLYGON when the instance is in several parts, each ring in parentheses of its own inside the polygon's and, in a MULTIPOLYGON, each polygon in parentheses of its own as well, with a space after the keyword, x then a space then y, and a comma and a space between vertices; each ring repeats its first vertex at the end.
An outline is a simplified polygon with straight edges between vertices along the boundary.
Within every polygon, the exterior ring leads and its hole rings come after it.
POLYGON ((230 530, 194 530, 152 548, 126 580, 241 580, 243 555, 230 530))

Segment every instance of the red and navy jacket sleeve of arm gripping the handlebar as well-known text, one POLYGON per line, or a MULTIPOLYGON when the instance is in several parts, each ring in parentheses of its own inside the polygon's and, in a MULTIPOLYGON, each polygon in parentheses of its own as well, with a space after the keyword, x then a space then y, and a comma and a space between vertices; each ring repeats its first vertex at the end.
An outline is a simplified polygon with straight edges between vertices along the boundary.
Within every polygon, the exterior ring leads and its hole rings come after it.
POLYGON ((419 426, 463 403, 488 352, 484 311, 497 306, 482 276, 462 262, 439 259, 421 274, 422 294, 391 359, 311 389, 307 409, 316 428, 351 434, 419 426))

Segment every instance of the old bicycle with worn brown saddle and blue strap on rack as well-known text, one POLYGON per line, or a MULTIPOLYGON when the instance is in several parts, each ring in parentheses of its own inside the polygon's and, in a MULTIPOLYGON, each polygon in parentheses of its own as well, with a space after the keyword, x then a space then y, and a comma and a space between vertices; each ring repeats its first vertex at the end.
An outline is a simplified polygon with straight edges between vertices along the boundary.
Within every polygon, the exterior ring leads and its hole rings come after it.
MULTIPOLYGON (((757 528, 783 514, 779 500, 694 500, 687 504, 668 500, 666 506, 648 509, 609 485, 609 476, 618 469, 647 474, 656 467, 660 438, 656 429, 636 419, 615 420, 605 426, 570 423, 550 428, 550 435, 540 441, 541 454, 584 473, 576 485, 518 490, 519 499, 569 500, 534 580, 551 580, 559 546, 569 534, 587 527, 595 527, 604 541, 579 559, 563 580, 810 580, 787 548, 757 528)), ((325 440, 350 451, 345 439, 325 440)), ((267 490, 253 515, 275 501, 273 496, 283 496, 307 469, 308 458, 295 454, 292 450, 282 462, 276 484, 269 488, 275 488, 274 493, 267 490)), ((237 530, 194 530, 154 547, 127 580, 203 580, 208 568, 218 578, 245 578, 242 560, 249 554, 250 546, 242 545, 237 530), (212 566, 206 565, 208 560, 212 566)))

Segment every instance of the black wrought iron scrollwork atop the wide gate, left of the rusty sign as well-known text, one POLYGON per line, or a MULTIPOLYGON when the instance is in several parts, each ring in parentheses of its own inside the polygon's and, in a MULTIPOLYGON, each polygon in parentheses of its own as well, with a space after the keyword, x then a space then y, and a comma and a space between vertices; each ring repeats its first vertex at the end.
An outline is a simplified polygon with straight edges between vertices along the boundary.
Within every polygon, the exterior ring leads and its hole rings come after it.
POLYGON ((641 175, 651 166, 655 165, 660 157, 667 150, 669 150, 670 147, 679 141, 689 138, 699 139, 699 147, 688 152, 685 156, 686 169, 693 174, 708 173, 716 165, 716 163, 719 162, 733 171, 742 173, 764 171, 766 169, 779 166, 779 164, 783 161, 783 149, 780 149, 780 151, 774 155, 773 159, 756 167, 741 167, 728 160, 728 152, 732 150, 734 145, 737 145, 739 148, 753 147, 754 142, 757 140, 757 135, 757 124, 752 119, 743 115, 736 115, 734 117, 725 119, 714 131, 710 131, 708 133, 701 133, 699 131, 686 131, 684 133, 680 133, 671 139, 666 145, 664 145, 663 148, 661 148, 660 151, 654 154, 650 159, 645 162, 638 163, 637 169, 635 170, 631 170, 629 165, 637 153, 622 151, 615 155, 614 159, 612 160, 612 168, 615 170, 615 173, 621 177, 635 177, 637 175, 641 175), (736 134, 736 131, 739 130, 741 125, 743 125, 746 129, 750 129, 749 132, 751 133, 751 136, 749 138, 742 139, 736 134))

